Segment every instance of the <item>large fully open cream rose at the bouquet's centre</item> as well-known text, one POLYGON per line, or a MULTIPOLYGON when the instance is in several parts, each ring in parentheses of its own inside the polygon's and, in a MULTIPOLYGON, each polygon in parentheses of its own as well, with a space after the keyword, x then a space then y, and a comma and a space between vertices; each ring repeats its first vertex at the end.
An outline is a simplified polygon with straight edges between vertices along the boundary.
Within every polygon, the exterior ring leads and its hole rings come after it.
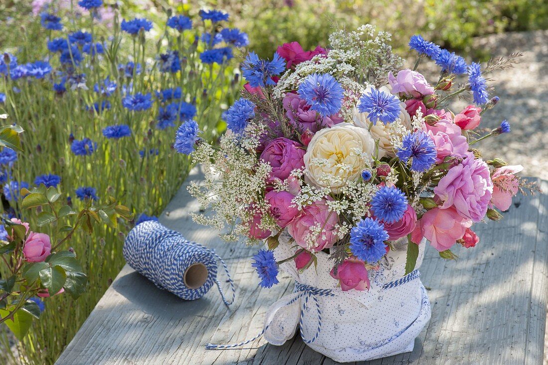
POLYGON ((370 165, 375 141, 367 130, 348 123, 318 131, 304 156, 306 180, 333 193, 360 177, 370 165))

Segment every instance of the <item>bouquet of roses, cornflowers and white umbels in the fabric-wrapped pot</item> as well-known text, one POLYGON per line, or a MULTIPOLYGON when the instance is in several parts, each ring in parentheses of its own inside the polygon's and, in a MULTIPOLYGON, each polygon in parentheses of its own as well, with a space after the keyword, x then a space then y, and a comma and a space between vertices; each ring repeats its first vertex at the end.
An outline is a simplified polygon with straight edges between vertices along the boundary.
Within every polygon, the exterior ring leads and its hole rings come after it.
MULTIPOLYGON (((413 36, 409 46, 418 60, 413 69, 398 70, 402 59, 392 53, 390 35, 373 26, 335 31, 329 41, 329 49, 312 51, 297 42, 283 44, 270 60, 249 53, 241 66, 247 84, 224 114, 229 131, 219 145, 201 141, 198 126, 189 121, 179 128, 175 148, 192 152, 203 167, 205 181, 190 192, 212 213, 196 214, 196 222, 228 227, 227 240, 266 240, 268 249, 252 265, 262 287, 278 283, 282 266, 301 284, 344 296, 372 291, 379 274, 386 276, 398 262, 397 276, 414 278, 426 241, 444 259, 455 257, 455 244, 475 246, 479 238, 472 225, 486 217, 500 220, 498 211, 509 208, 525 183, 516 176, 522 166, 484 160, 476 149, 477 142, 510 132, 506 120, 483 128, 484 113, 499 101, 489 98, 484 75, 517 55, 482 69, 413 36), (416 71, 425 58, 439 65, 435 83, 416 71), (454 113, 447 105, 456 96, 473 103, 454 113), (403 251, 401 260, 397 251, 403 251)), ((386 284, 381 280, 377 292, 386 284)), ((296 290, 326 295, 303 288, 296 290)), ((418 286, 400 299, 412 298, 420 302, 418 286)), ((427 308, 426 320, 429 303, 427 308)), ((418 309, 412 311, 407 327, 416 320, 418 309)), ((370 315, 354 312, 354 318, 370 315)), ((318 334, 319 325, 307 343, 321 342, 318 334)), ((276 343, 273 337, 268 339, 276 343)), ((408 345, 407 340, 392 350, 409 351, 408 345)), ((318 351, 330 354, 322 346, 318 351)), ((355 361, 393 351, 329 356, 355 361)))

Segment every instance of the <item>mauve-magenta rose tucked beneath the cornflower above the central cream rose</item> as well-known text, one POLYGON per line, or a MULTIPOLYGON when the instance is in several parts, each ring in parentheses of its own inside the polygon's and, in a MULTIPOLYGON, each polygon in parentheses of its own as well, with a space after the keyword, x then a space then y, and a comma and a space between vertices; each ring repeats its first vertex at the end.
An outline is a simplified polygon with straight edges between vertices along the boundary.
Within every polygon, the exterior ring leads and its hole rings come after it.
POLYGON ((338 115, 322 117, 316 111, 311 110, 310 105, 299 98, 298 94, 287 93, 282 103, 283 108, 286 109, 289 123, 301 133, 306 130, 316 133, 323 128, 343 122, 343 119, 338 115))

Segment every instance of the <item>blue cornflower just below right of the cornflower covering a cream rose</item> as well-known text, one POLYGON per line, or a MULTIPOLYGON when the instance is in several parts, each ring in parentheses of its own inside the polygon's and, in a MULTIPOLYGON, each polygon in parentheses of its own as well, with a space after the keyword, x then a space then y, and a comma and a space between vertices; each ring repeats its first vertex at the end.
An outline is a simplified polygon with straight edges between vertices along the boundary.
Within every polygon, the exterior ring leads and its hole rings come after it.
POLYGON ((403 137, 397 156, 406 164, 412 159, 411 170, 425 172, 436 162, 436 145, 423 131, 408 133, 403 137))

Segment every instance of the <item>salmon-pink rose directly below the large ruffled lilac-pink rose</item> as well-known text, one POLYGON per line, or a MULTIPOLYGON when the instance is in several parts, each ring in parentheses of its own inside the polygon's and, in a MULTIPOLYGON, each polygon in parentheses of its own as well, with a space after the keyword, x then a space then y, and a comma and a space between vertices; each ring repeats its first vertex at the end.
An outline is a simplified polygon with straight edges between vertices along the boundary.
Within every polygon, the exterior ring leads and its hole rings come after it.
POLYGON ((411 234, 411 240, 419 244, 423 237, 430 241, 438 251, 450 249, 458 239, 461 239, 470 226, 454 207, 441 209, 439 207, 427 211, 417 222, 411 234))

